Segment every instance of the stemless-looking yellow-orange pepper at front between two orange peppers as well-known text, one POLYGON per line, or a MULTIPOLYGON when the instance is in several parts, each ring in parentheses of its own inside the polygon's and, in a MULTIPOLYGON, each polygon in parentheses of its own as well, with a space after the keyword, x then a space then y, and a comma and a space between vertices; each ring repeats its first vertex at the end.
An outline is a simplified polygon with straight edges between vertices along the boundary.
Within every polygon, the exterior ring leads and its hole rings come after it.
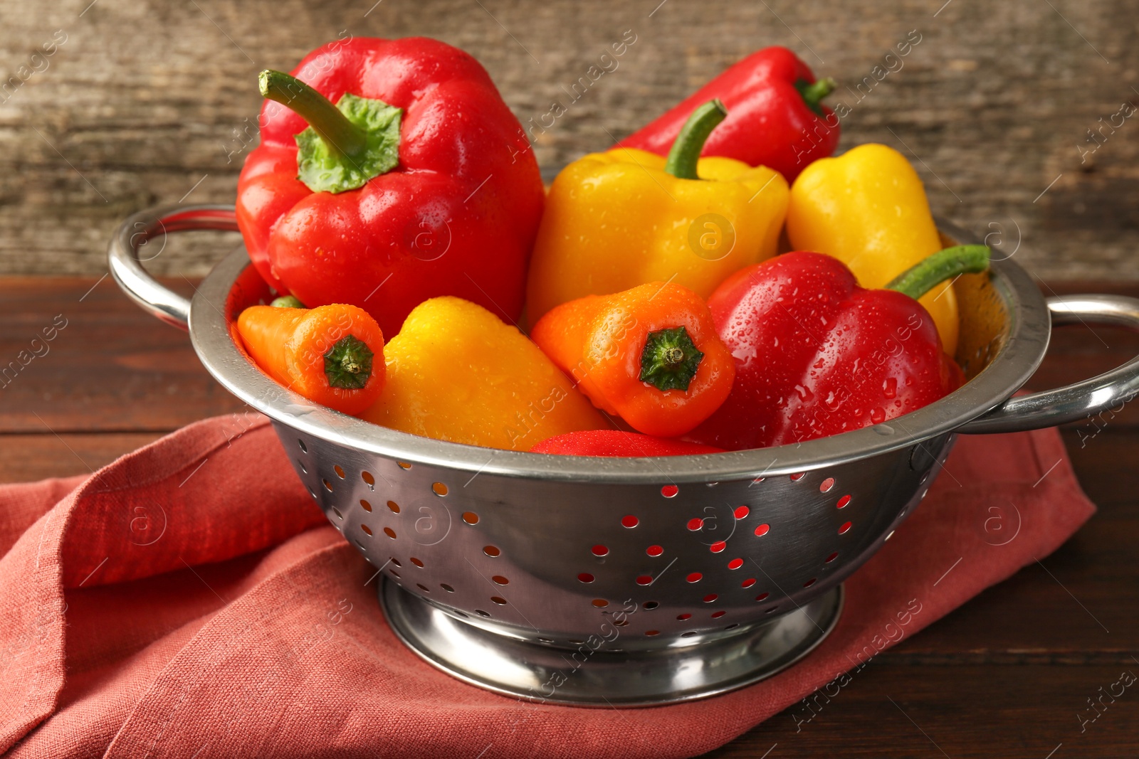
POLYGON ((376 424, 513 451, 611 429, 530 338, 462 298, 416 306, 384 346, 384 391, 362 414, 376 424))

